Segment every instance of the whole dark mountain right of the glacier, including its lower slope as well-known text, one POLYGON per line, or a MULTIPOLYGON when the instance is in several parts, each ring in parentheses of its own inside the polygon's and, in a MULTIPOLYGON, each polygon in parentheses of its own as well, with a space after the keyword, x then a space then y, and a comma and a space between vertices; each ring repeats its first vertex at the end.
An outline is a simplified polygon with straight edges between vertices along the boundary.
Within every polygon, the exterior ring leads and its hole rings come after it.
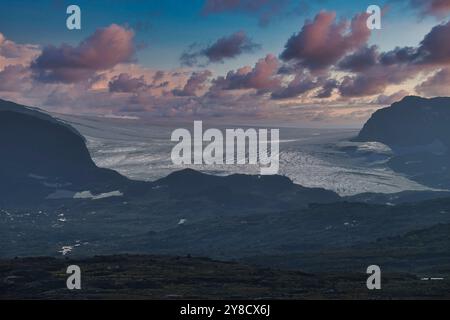
POLYGON ((430 187, 450 188, 450 98, 405 97, 375 112, 355 140, 390 146, 394 171, 430 187))

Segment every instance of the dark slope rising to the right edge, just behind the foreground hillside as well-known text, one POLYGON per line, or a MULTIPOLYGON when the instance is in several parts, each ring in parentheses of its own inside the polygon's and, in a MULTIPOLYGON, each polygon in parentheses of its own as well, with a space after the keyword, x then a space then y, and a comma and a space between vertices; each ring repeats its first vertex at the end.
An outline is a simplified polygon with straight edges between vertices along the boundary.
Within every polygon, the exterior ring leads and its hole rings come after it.
MULTIPOLYGON (((447 277, 450 273, 450 224, 439 224, 366 244, 260 255, 243 259, 252 265, 298 268, 308 272, 359 272, 377 264, 386 272, 407 272, 420 277, 447 277)), ((448 281, 448 280, 447 280, 448 281)))

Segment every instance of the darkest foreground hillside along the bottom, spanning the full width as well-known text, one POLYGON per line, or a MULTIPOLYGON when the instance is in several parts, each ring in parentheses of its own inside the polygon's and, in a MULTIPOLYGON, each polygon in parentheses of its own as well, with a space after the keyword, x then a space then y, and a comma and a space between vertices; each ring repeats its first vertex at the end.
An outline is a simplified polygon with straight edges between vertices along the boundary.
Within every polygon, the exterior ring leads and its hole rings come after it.
POLYGON ((369 291, 360 273, 307 274, 232 262, 165 256, 0 260, 0 299, 412 299, 450 298, 450 283, 383 275, 369 291), (66 288, 68 265, 82 269, 82 289, 66 288))

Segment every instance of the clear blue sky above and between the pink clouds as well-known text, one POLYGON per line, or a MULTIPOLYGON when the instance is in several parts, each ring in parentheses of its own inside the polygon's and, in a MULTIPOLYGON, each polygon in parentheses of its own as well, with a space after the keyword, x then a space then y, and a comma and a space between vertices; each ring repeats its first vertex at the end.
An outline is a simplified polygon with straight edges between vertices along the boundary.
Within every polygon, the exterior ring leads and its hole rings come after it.
POLYGON ((136 31, 136 40, 146 44, 138 52, 139 62, 148 67, 170 69, 179 66, 179 57, 192 43, 211 43, 221 36, 239 30, 261 44, 260 51, 245 54, 226 64, 212 66, 219 73, 254 63, 259 57, 282 51, 287 38, 298 32, 305 19, 311 19, 320 10, 336 11, 339 17, 352 17, 371 4, 380 7, 390 3, 390 10, 383 19, 384 30, 374 32, 371 42, 389 50, 395 46, 417 45, 435 24, 432 17, 417 18, 404 3, 373 0, 308 1, 307 10, 290 13, 300 1, 292 1, 286 15, 275 17, 265 27, 248 13, 225 12, 204 16, 201 14, 203 0, 17 0, 2 1, 0 30, 19 43, 42 45, 60 43, 77 44, 97 28, 111 23, 129 25, 136 31), (77 4, 82 10, 82 30, 70 31, 65 27, 69 4, 77 4), (6 10, 5 10, 6 9, 6 10), (138 27, 139 26, 139 27, 138 27))

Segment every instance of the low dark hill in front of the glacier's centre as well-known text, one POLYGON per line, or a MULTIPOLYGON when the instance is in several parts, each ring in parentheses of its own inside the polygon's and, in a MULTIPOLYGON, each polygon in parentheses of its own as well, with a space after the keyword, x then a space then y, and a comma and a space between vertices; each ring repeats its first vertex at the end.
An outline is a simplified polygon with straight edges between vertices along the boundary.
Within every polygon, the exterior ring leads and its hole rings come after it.
POLYGON ((321 188, 305 188, 284 176, 233 174, 214 176, 192 169, 174 172, 154 182, 172 200, 208 200, 228 208, 282 210, 309 203, 340 201, 339 195, 321 188))

